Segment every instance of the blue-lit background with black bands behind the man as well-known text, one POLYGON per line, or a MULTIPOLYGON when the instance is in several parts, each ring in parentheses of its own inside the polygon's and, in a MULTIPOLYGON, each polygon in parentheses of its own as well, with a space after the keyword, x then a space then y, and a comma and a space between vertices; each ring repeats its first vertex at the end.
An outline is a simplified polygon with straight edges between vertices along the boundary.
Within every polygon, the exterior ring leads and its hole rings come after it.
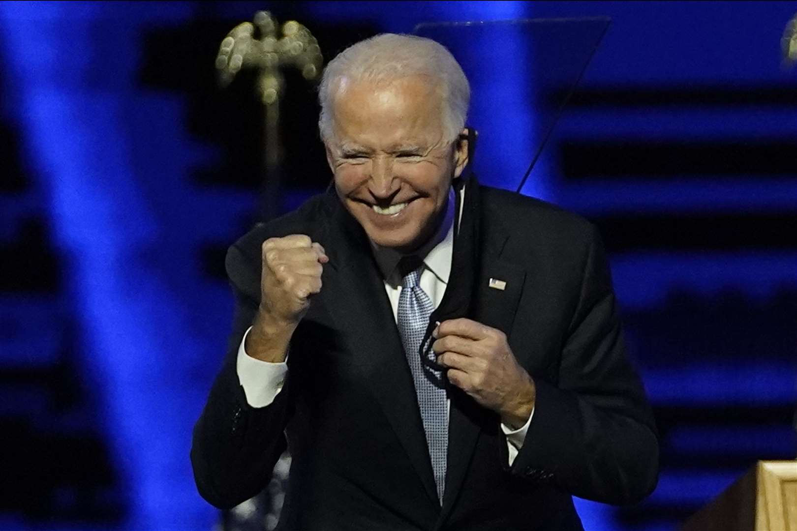
MULTIPOLYGON (((224 248, 257 218, 261 138, 250 88, 218 92, 213 62, 263 8, 327 58, 420 21, 611 17, 524 188, 602 229, 662 431, 654 494, 579 501, 584 525, 673 529, 756 459, 795 458, 797 71, 780 37, 797 3, 5 2, 0 529, 219 521, 190 431, 230 325, 224 248)), ((300 85, 282 209, 329 179, 300 85)), ((480 119, 477 170, 514 188, 531 146, 480 119)))

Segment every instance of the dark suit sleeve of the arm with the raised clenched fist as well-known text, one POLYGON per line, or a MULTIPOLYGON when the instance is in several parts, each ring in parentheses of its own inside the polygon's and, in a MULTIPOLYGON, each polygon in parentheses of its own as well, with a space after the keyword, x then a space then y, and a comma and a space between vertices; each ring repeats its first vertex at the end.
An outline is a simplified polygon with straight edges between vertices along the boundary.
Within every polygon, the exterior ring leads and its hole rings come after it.
POLYGON ((233 330, 222 369, 194 426, 190 453, 199 494, 220 509, 252 498, 268 484, 285 451, 291 409, 289 378, 268 406, 253 408, 246 401, 236 361, 241 339, 257 312, 261 265, 233 246, 226 267, 235 295, 233 330))

